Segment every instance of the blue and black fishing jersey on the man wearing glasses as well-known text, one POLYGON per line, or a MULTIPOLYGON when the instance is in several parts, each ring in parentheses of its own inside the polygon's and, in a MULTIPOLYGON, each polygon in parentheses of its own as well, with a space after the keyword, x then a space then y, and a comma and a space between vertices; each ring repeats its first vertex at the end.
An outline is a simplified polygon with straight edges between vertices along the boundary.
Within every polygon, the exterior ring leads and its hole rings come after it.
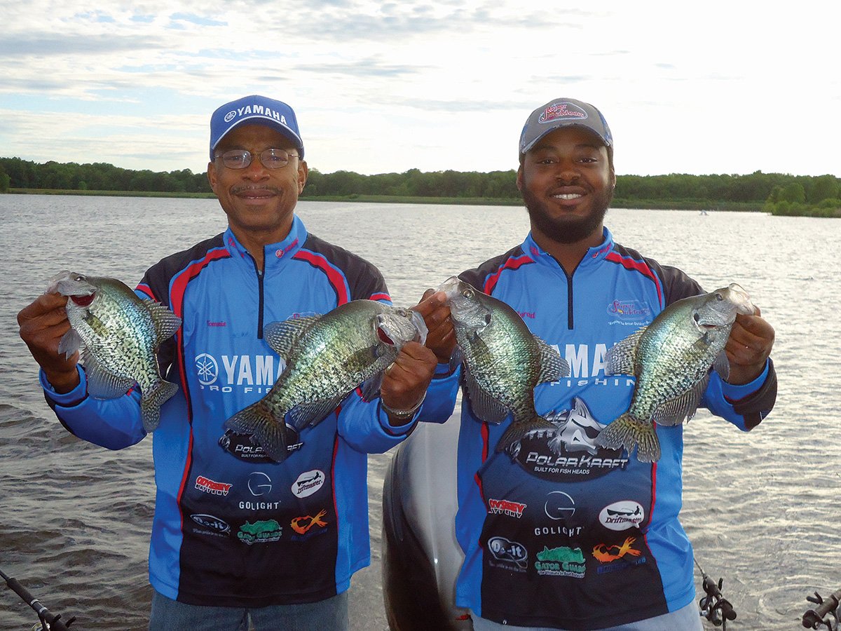
MULTIPOLYGON (((384 452, 414 427, 389 426, 379 400, 348 395, 300 433, 281 463, 249 437, 225 432, 235 412, 266 395, 283 363, 263 326, 324 314, 350 300, 389 302, 370 263, 309 235, 295 217, 264 248, 261 273, 230 228, 149 269, 137 288, 182 318, 159 350, 177 395, 153 435, 156 506, 149 571, 166 597, 195 605, 261 607, 315 602, 350 586, 370 562, 366 453, 384 452)), ((145 432, 138 393, 96 400, 82 384, 47 400, 78 437, 107 448, 145 432)))

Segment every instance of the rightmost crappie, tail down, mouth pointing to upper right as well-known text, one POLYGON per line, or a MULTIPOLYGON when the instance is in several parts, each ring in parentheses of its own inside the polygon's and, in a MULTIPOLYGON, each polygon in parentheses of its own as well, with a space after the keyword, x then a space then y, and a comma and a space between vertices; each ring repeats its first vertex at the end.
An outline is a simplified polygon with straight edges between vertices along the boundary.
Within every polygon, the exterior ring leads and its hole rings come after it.
POLYGON ((730 363, 724 347, 736 314, 754 314, 747 292, 730 284, 709 294, 677 300, 654 321, 612 347, 606 374, 637 378, 628 411, 596 438, 602 447, 637 448, 637 460, 660 458, 653 423, 680 425, 695 415, 710 381, 711 367, 727 379, 730 363))

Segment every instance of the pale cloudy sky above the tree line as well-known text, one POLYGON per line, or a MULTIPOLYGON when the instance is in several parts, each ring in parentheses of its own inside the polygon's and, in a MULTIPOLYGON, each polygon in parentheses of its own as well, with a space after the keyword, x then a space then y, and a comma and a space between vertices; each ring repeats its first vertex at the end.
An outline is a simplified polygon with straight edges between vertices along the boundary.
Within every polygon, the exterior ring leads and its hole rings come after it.
POLYGON ((834 2, 0 0, 0 156, 207 166, 209 116, 290 103, 310 168, 516 167, 526 116, 594 103, 616 171, 841 177, 834 2))

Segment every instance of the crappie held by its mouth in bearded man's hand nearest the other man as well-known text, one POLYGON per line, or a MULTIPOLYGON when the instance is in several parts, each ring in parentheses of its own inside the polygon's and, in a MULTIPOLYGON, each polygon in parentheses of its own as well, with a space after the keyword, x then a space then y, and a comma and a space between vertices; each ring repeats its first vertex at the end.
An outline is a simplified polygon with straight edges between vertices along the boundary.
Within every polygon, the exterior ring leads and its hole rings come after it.
POLYGON ((540 337, 532 334, 509 305, 473 289, 453 276, 438 288, 447 294, 458 352, 463 358, 464 386, 476 416, 501 423, 510 414, 496 451, 514 453, 526 433, 555 426, 537 414, 534 389, 544 381, 569 375, 567 363, 540 337))

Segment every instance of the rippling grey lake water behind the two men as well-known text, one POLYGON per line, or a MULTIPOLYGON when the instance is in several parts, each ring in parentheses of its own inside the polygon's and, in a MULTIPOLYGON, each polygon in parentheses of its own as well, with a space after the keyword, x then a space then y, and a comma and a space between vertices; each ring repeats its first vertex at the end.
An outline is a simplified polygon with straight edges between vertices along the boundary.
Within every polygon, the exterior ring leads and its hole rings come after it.
MULTIPOLYGON (((513 207, 301 202, 298 212, 309 231, 376 264, 405 306, 528 230, 513 207)), ((144 629, 151 440, 109 452, 65 432, 16 315, 62 268, 134 286, 161 257, 224 230, 225 215, 213 199, 0 195, 0 218, 0 570, 65 619, 77 615, 76 628, 144 629)), ((724 577, 738 612, 728 628, 801 628, 806 597, 841 587, 841 220, 614 209, 606 223, 705 289, 742 284, 775 326, 775 410, 749 433, 703 411, 689 423, 682 519, 698 561, 724 577)), ((351 590, 359 631, 388 628, 379 530, 389 458, 369 460, 373 563, 351 590)), ((35 621, 0 583, 0 629, 35 621)))

